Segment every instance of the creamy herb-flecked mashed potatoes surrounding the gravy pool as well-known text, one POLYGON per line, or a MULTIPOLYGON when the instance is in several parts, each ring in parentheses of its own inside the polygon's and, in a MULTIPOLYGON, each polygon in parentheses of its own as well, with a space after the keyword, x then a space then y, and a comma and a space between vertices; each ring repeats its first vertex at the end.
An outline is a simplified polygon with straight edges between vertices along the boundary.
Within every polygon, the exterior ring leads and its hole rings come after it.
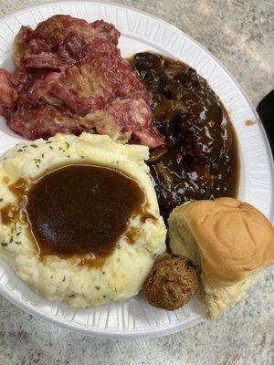
POLYGON ((90 308, 136 295, 156 256, 165 250, 166 229, 144 162, 148 155, 147 147, 122 145, 88 133, 17 144, 0 162, 0 212, 9 204, 18 205, 10 189, 18 179, 36 180, 60 166, 84 162, 111 167, 135 179, 145 193, 147 213, 154 218, 142 222, 140 216, 132 217, 129 229, 138 232, 135 243, 121 235, 102 266, 80 265, 79 257, 46 255, 40 259, 29 225, 19 218, 7 224, 0 220, 0 255, 39 295, 73 307, 90 308))

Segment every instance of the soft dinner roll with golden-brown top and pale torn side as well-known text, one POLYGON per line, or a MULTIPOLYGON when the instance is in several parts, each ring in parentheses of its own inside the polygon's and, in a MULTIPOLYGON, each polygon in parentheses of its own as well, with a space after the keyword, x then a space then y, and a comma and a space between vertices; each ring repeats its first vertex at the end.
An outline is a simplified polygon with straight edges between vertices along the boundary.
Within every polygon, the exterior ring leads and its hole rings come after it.
POLYGON ((168 223, 173 254, 189 257, 199 270, 209 318, 244 298, 274 262, 274 229, 248 203, 233 198, 184 203, 168 223))

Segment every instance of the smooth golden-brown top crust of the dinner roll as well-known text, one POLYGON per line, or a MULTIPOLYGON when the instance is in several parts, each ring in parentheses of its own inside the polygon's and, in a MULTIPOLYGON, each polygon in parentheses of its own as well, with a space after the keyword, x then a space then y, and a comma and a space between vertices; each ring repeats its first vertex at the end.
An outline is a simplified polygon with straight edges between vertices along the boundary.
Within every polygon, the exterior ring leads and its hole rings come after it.
POLYGON ((231 286, 274 262, 273 227, 248 203, 218 198, 183 204, 171 214, 170 229, 183 221, 195 237, 208 284, 231 286))

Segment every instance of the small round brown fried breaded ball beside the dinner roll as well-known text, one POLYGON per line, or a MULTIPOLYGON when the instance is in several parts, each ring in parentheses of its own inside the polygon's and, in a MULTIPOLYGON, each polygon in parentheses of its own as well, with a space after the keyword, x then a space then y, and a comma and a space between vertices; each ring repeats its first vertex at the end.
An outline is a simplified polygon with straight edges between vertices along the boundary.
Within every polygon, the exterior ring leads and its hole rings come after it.
POLYGON ((153 307, 174 310, 191 299, 198 283, 192 261, 184 256, 165 255, 154 264, 142 290, 153 307))

